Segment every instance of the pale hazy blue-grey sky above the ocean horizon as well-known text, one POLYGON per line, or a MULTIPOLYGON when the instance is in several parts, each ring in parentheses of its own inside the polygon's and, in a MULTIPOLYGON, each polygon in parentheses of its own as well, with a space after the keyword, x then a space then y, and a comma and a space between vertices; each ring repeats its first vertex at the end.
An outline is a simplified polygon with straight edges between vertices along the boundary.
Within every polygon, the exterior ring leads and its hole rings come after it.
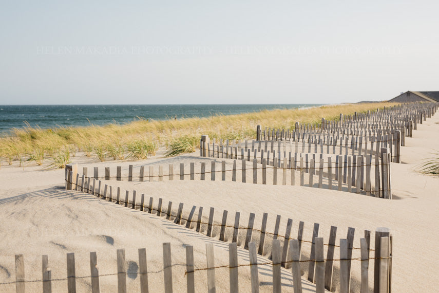
POLYGON ((437 1, 8 1, 0 104, 265 104, 439 90, 437 1))

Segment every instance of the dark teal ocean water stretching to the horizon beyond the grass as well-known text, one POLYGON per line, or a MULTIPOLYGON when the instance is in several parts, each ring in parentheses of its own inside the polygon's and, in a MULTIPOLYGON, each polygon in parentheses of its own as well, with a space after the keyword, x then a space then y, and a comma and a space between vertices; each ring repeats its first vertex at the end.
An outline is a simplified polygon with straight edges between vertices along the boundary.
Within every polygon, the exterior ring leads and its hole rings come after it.
POLYGON ((293 109, 321 104, 194 104, 194 105, 0 105, 0 135, 13 128, 39 126, 43 129, 62 126, 128 123, 149 120, 211 117, 258 112, 263 109, 293 109))

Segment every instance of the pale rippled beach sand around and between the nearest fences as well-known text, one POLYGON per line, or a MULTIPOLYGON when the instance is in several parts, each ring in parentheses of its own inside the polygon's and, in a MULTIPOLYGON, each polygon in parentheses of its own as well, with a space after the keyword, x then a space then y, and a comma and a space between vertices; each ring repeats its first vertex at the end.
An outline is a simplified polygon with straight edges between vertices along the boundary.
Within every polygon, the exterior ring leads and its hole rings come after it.
MULTIPOLYGON (((320 224, 319 236, 328 242, 331 226, 337 226, 337 239, 345 238, 348 227, 355 228, 354 247, 360 247, 359 239, 364 230, 372 233, 377 227, 388 227, 393 234, 392 289, 394 292, 434 292, 436 270, 439 269, 434 253, 439 233, 435 224, 439 221, 439 178, 423 175, 416 170, 424 159, 432 157, 439 143, 439 114, 417 125, 413 137, 406 138, 401 149, 402 163, 391 163, 392 200, 358 195, 335 190, 300 186, 272 186, 243 184, 231 181, 174 180, 157 182, 110 181, 113 188, 136 190, 140 194, 163 198, 164 206, 173 202, 176 209, 184 204, 183 216, 187 217, 192 206, 204 207, 203 220, 207 221, 208 209, 215 208, 214 223, 220 223, 223 210, 228 211, 227 225, 233 225, 236 211, 241 213, 246 225, 249 214, 255 213, 255 229, 260 229, 263 213, 268 213, 267 231, 274 230, 276 215, 282 218, 280 234, 285 231, 288 218, 293 220, 292 235, 297 235, 299 221, 304 222, 304 240, 311 240, 314 223, 320 224)), ((188 164, 212 160, 199 158, 197 153, 173 158, 157 156, 144 161, 98 162, 78 154, 73 163, 82 167, 122 166, 135 168, 168 163, 188 164)), ((29 163, 30 164, 30 163, 29 163)), ((91 170, 92 171, 92 170, 91 170)), ((90 168, 89 168, 89 172, 90 168)), ((112 171, 113 172, 113 171, 112 171)), ((185 291, 185 246, 192 245, 195 267, 206 266, 206 243, 213 243, 215 265, 228 264, 228 244, 232 230, 226 229, 225 242, 218 240, 219 227, 214 227, 213 237, 196 232, 194 227, 173 224, 154 214, 132 210, 121 205, 105 202, 91 194, 65 190, 64 170, 42 170, 39 166, 4 166, 0 169, 0 282, 15 280, 14 255, 24 254, 26 280, 41 279, 41 255, 49 255, 52 279, 66 277, 66 253, 74 252, 77 276, 89 276, 89 252, 98 255, 99 273, 117 272, 116 250, 124 248, 128 267, 128 291, 139 287, 138 248, 146 248, 149 289, 163 291, 162 243, 171 244, 174 290, 185 291)), ((245 233, 240 231, 238 240, 238 263, 248 263, 249 254, 242 248, 245 233)), ((259 234, 254 233, 254 239, 259 234)), ((265 244, 269 251, 269 243, 265 244)), ((373 248, 373 242, 371 242, 373 248)), ((302 247, 303 255, 309 255, 310 245, 302 247)), ((337 256, 336 252, 336 256, 337 256)), ((325 250, 326 255, 326 250, 325 250)), ((269 255, 258 255, 262 263, 269 255)), ((359 257, 354 250, 353 257, 359 257)), ((306 281, 307 265, 302 264, 303 288, 315 285, 306 281)), ((371 267, 373 264, 370 265, 371 267)), ((338 264, 335 264, 337 271, 338 264)), ((352 263, 352 290, 359 287, 359 262, 352 263)), ((371 273, 370 269, 370 273, 371 273)), ((239 268, 239 286, 242 292, 250 288, 250 269, 239 268)), ((206 271, 195 272, 196 290, 206 291, 206 271)), ((334 276, 336 278, 336 276, 334 276)), ((271 268, 259 269, 261 291, 271 291, 271 268)), ((218 291, 228 291, 228 268, 216 269, 218 291)), ((292 291, 291 270, 282 269, 282 289, 292 291)), ((29 291, 41 291, 39 282, 26 283, 29 291)), ((78 279, 79 291, 90 290, 90 278, 78 279)), ((53 281, 55 292, 66 291, 67 281, 53 281)), ((0 291, 15 290, 15 284, 0 285, 0 291)), ((338 290, 338 288, 337 288, 338 290)), ((101 277, 101 291, 117 291, 117 277, 101 277)))

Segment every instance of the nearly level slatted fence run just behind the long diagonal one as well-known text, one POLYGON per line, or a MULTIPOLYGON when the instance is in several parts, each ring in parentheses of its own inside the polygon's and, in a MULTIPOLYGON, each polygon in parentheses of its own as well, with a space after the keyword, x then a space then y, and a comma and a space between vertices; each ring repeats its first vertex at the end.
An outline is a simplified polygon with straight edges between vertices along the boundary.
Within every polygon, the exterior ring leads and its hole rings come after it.
MULTIPOLYGON (((376 155, 366 156, 340 156, 336 155, 323 158, 316 157, 315 154, 289 153, 289 157, 283 157, 279 153, 276 158, 276 153, 270 158, 268 153, 267 158, 263 155, 261 158, 247 156, 245 159, 236 160, 228 159, 220 162, 220 167, 217 169, 217 162, 213 159, 206 166, 206 162, 189 163, 189 166, 180 163, 179 169, 175 170, 174 164, 169 164, 167 170, 164 166, 149 166, 149 172, 145 172, 144 166, 140 166, 138 171, 132 165, 128 167, 128 174, 122 175, 122 167, 117 167, 111 173, 110 168, 105 168, 105 175, 99 171, 98 167, 93 168, 93 176, 89 177, 88 168, 83 168, 83 174, 78 173, 77 167, 66 167, 66 188, 69 181, 74 181, 75 184, 81 187, 81 190, 86 186, 96 185, 97 179, 116 179, 118 181, 127 179, 128 181, 163 181, 174 180, 231 180, 249 182, 253 184, 272 184, 272 185, 300 185, 314 188, 336 189, 339 191, 347 191, 354 193, 361 193, 368 196, 375 196, 381 198, 391 199, 391 181, 390 181, 390 156, 387 150, 382 150, 381 157, 376 155), (332 161, 335 160, 335 162, 332 161), (250 166, 249 166, 250 162, 250 166), (232 167, 226 168, 227 164, 232 164, 232 167), (238 165, 240 164, 240 169, 238 165), (187 172, 189 167, 189 172, 187 172), (67 170, 72 170, 71 178, 67 170), (116 172, 114 172, 116 171, 116 172), (268 172, 269 171, 269 172, 268 172), (116 175, 114 176, 114 173, 116 175), (217 176, 219 173, 219 176, 217 176), (113 175, 111 175, 113 174, 113 175), (305 176, 307 174, 307 176, 305 176), (271 178, 269 178, 271 176, 271 178), (297 178, 297 179, 296 179, 297 178)), ((256 156, 256 152, 254 153, 256 156)), ((263 153, 261 153, 263 154, 263 153)), ((228 156, 226 154, 226 156, 228 156)), ((86 189, 89 189, 88 187, 86 189)))

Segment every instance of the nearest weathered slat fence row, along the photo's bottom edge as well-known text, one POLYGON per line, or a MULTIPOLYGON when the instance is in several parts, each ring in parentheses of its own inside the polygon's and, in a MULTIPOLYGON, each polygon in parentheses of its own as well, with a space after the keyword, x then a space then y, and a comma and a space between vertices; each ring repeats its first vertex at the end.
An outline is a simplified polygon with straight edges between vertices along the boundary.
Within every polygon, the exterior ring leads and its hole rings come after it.
MULTIPOLYGON (((352 262, 358 261, 361 266, 361 292, 369 292, 369 278, 374 278, 374 292, 390 292, 390 281, 391 281, 391 249, 392 249, 392 237, 389 236, 388 231, 377 231, 375 244, 378 244, 378 249, 375 248, 375 256, 371 258, 369 256, 370 249, 367 238, 362 238, 361 243, 361 257, 352 258, 352 243, 351 239, 340 239, 340 245, 336 246, 331 244, 328 248, 328 257, 324 258, 324 247, 322 237, 313 237, 313 250, 310 260, 301 259, 301 245, 298 239, 289 240, 287 243, 288 247, 288 260, 284 259, 285 249, 281 249, 281 241, 279 239, 273 240, 273 250, 272 250, 272 260, 266 260, 263 263, 258 263, 256 257, 256 243, 249 242, 249 263, 238 263, 238 247, 237 243, 232 242, 228 244, 229 253, 229 264, 223 266, 215 266, 214 257, 214 244, 206 243, 206 267, 196 268, 194 264, 194 248, 193 246, 186 245, 186 263, 176 264, 173 263, 171 257, 171 245, 170 243, 163 243, 163 267, 160 272, 163 272, 164 280, 164 292, 170 293, 174 289, 181 291, 181 287, 175 287, 173 284, 173 266, 182 265, 186 267, 185 278, 186 278, 186 289, 187 292, 195 292, 195 284, 199 281, 201 276, 195 277, 197 271, 207 271, 207 285, 209 292, 215 292, 218 286, 219 289, 227 288, 227 284, 217 283, 215 280, 215 270, 228 268, 230 275, 230 282, 228 288, 230 292, 238 292, 239 288, 239 268, 244 266, 250 266, 251 270, 251 287, 247 288, 245 291, 259 292, 259 271, 260 266, 271 266, 271 274, 273 279, 273 292, 281 292, 281 266, 291 267, 291 273, 293 277, 293 288, 294 292, 302 292, 302 282, 306 282, 301 279, 300 264, 303 262, 308 262, 310 269, 312 268, 312 274, 309 274, 308 281, 315 283, 315 292, 324 292, 326 289, 331 289, 331 275, 332 266, 334 262, 340 263, 340 278, 339 278, 339 288, 340 292, 349 292, 350 288, 350 271, 352 262), (333 258, 334 248, 339 247, 338 259, 333 258), (369 262, 370 260, 375 261, 374 272, 369 276, 369 262), (329 287, 328 287, 329 285, 329 287)), ((352 237, 351 237, 352 238, 352 237)), ((149 292, 148 284, 148 271, 150 269, 147 266, 146 261, 146 249, 140 248, 138 250, 139 255, 139 271, 140 280, 138 283, 138 290, 140 292, 149 292), (148 269, 147 269, 148 268, 148 269)), ((100 287, 100 274, 98 267, 98 255, 96 252, 90 252, 90 274, 89 276, 77 276, 75 273, 75 258, 74 253, 67 253, 67 275, 65 278, 52 280, 52 270, 49 267, 49 256, 42 256, 42 279, 40 280, 26 280, 25 276, 25 260, 23 254, 15 255, 15 281, 0 283, 0 286, 13 285, 15 284, 15 291, 17 293, 26 292, 26 283, 42 283, 43 293, 50 293, 52 291, 52 282, 67 281, 66 291, 69 293, 77 292, 77 279, 82 279, 84 282, 89 281, 89 290, 93 293, 101 292, 100 287)), ((114 273, 106 273, 104 276, 114 276, 117 278, 117 291, 119 293, 127 292, 127 266, 125 261, 125 249, 118 249, 116 251, 117 256, 117 267, 114 268, 114 273)), ((157 268, 153 268, 157 270, 157 268)), ((157 271, 154 271, 157 273, 157 271)), ((266 268, 264 267, 264 273, 266 274, 266 268)), ((0 287, 1 288, 1 287, 0 287)))

